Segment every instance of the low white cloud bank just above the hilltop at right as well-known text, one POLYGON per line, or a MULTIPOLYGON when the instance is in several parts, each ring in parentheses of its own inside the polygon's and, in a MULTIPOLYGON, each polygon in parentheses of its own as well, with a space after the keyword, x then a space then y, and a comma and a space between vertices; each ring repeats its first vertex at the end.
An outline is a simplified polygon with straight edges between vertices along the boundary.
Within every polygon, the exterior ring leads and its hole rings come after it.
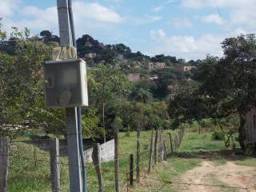
POLYGON ((221 42, 225 38, 236 37, 240 34, 247 34, 248 31, 242 27, 234 29, 226 34, 202 34, 195 37, 194 35, 171 35, 167 36, 165 31, 150 30, 150 37, 153 40, 153 47, 145 54, 167 54, 174 55, 178 58, 190 59, 203 59, 206 54, 222 57, 221 42), (164 35, 161 35, 164 34, 164 35))

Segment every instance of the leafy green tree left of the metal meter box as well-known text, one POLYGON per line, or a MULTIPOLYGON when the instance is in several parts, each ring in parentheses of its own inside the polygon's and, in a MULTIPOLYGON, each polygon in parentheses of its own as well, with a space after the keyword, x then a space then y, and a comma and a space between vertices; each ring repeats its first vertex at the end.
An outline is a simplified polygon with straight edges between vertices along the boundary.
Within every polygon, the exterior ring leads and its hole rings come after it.
MULTIPOLYGON (((66 133, 64 110, 47 110, 44 103, 42 62, 50 60, 51 47, 30 38, 30 31, 13 27, 14 54, 0 53, 0 127, 46 123, 48 133, 66 133)), ((6 131, 2 134, 12 134, 6 131)))

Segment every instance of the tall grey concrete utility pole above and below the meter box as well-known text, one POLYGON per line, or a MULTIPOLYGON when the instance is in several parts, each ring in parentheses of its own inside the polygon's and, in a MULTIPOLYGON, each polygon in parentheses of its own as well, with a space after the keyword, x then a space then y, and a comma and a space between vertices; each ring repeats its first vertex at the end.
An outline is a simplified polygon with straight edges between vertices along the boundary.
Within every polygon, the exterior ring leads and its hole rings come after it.
MULTIPOLYGON (((59 36, 62 46, 73 45, 67 0, 57 0, 59 36)), ((78 145, 77 108, 66 109, 70 169, 70 192, 82 192, 81 162, 78 145)))

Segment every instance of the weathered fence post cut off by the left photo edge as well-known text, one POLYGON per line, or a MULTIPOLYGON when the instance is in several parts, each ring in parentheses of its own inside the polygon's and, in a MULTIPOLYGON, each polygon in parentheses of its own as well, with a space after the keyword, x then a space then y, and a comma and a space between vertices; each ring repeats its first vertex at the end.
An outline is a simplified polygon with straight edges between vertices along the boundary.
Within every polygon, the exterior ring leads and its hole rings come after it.
POLYGON ((0 138, 0 191, 7 191, 8 163, 10 140, 7 137, 0 138))

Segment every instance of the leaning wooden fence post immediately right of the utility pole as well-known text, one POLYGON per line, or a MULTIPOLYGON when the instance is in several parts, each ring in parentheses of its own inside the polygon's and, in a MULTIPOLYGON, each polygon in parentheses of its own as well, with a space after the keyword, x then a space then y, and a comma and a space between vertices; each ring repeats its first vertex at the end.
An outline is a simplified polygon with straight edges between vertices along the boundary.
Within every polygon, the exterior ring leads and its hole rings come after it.
POLYGON ((94 162, 96 174, 98 176, 98 192, 103 191, 103 180, 102 180, 102 167, 101 167, 101 157, 100 157, 100 146, 98 143, 94 144, 94 150, 92 154, 92 159, 94 162))

